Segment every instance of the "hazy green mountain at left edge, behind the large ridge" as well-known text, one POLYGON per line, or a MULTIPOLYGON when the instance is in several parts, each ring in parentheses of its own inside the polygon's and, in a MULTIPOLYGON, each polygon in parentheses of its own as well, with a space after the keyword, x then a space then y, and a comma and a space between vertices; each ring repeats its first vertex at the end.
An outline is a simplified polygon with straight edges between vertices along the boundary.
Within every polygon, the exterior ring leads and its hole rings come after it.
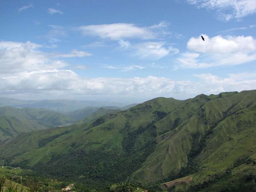
POLYGON ((17 136, 15 131, 31 132, 70 125, 74 121, 64 114, 46 109, 0 107, 0 141, 17 136))

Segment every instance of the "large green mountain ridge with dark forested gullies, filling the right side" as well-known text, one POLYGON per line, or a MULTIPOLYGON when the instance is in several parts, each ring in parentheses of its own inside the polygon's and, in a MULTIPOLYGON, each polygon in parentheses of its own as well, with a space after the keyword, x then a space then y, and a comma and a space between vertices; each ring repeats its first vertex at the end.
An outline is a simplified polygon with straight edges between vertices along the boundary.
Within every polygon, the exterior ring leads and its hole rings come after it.
POLYGON ((20 134, 0 144, 0 156, 94 187, 256 190, 256 90, 159 97, 90 120, 20 134))

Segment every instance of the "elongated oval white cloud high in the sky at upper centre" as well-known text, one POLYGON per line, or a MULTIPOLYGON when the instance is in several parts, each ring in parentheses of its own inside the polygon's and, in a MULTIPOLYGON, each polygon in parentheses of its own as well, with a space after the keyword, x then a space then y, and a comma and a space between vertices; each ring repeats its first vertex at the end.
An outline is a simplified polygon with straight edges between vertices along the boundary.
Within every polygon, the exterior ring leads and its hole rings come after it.
POLYGON ((147 28, 132 23, 113 23, 84 25, 78 28, 84 35, 98 36, 103 39, 122 40, 126 38, 153 39, 155 35, 147 28))

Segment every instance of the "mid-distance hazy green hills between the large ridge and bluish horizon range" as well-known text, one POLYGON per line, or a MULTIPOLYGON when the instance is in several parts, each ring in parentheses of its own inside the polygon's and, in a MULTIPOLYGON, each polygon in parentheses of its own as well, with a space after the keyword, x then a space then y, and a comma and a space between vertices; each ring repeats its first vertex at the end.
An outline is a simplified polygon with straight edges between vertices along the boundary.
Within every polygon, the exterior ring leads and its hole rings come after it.
POLYGON ((0 107, 0 142, 7 138, 17 136, 20 134, 19 132, 31 132, 67 126, 75 122, 78 123, 78 121, 84 118, 86 118, 86 121, 93 120, 102 115, 121 111, 122 109, 127 109, 134 105, 136 104, 124 107, 85 107, 83 109, 63 113, 42 108, 0 107), (14 131, 3 128, 10 128, 14 131))

